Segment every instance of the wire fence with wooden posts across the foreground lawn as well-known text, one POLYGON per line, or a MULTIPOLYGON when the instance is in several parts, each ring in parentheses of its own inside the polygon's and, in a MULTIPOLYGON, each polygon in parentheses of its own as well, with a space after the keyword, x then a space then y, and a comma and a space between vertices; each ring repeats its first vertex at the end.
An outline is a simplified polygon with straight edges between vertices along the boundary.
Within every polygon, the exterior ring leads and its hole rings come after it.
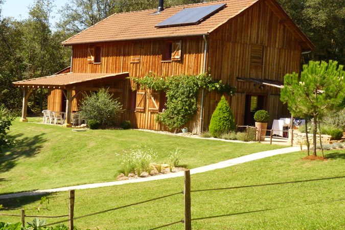
MULTIPOLYGON (((69 229, 73 229, 74 220, 78 220, 78 219, 82 219, 82 218, 86 218, 86 217, 90 217, 90 216, 95 216, 95 215, 99 215, 99 214, 110 212, 110 211, 116 211, 116 210, 128 208, 130 206, 139 205, 139 204, 143 204, 143 203, 148 203, 148 202, 152 202, 152 201, 156 201, 156 200, 160 200, 160 199, 164 199, 164 198, 168 198, 168 197, 171 197, 171 196, 176 196, 176 195, 182 194, 183 198, 184 198, 184 204, 185 204, 185 218, 182 219, 182 220, 176 221, 176 222, 172 222, 172 223, 168 223, 168 224, 164 224, 164 225, 161 225, 161 226, 150 228, 150 230, 159 229, 159 228, 163 228, 163 227, 168 227, 168 226, 179 224, 179 223, 183 223, 185 225, 185 229, 186 230, 190 230, 191 226, 192 226, 191 222, 192 221, 197 221, 197 220, 220 218, 220 217, 235 216, 235 215, 243 215, 243 214, 249 214, 249 213, 266 212, 266 211, 279 210, 279 209, 295 208, 297 206, 305 206, 305 205, 313 205, 313 204, 321 204, 321 203, 329 203, 329 202, 338 202, 338 201, 344 201, 345 200, 345 198, 339 198, 339 199, 335 199, 335 200, 327 200, 327 201, 323 200, 323 201, 316 201, 316 202, 312 202, 312 203, 297 204, 297 205, 290 205, 290 206, 282 206, 282 207, 276 207, 276 208, 254 210, 254 211, 246 211, 246 212, 240 212, 240 213, 229 213, 229 214, 222 214, 222 215, 216 215, 216 216, 191 218, 191 199, 190 199, 191 193, 206 192, 206 191, 244 189, 244 188, 252 188, 252 187, 278 186, 278 185, 287 185, 287 184, 291 184, 291 183, 304 183, 304 182, 311 182, 311 181, 334 180, 334 179, 342 179, 342 178, 345 178, 345 176, 316 178, 316 179, 306 179, 306 180, 295 180, 295 181, 285 181, 285 182, 274 182, 274 183, 265 183, 265 184, 260 184, 260 185, 245 185, 245 186, 237 186, 237 187, 212 188, 212 189, 207 189, 206 188, 206 189, 200 189, 200 190, 191 190, 191 187, 190 187, 190 185, 191 185, 190 171, 188 170, 188 171, 185 171, 185 189, 182 192, 178 192, 178 193, 173 193, 173 194, 169 194, 169 195, 165 195, 165 196, 160 196, 160 197, 152 198, 152 199, 149 199, 149 200, 144 200, 144 201, 140 201, 140 202, 136 202, 136 203, 131 203, 131 204, 119 206, 119 207, 108 209, 108 210, 103 210, 103 211, 96 212, 96 213, 91 213, 91 214, 87 214, 87 215, 83 215, 83 216, 79 216, 79 217, 74 217, 74 198, 75 198, 74 197, 74 190, 70 190, 69 191, 69 198, 67 198, 67 199, 70 200, 70 202, 69 202, 69 211, 70 211, 70 213, 67 214, 67 215, 60 215, 60 216, 31 216, 31 215, 25 215, 24 209, 22 209, 21 210, 21 215, 0 213, 0 216, 21 217, 22 225, 23 226, 25 226, 25 221, 24 221, 25 217, 62 218, 62 217, 67 217, 68 216, 68 219, 57 221, 57 222, 50 223, 50 224, 46 224, 46 225, 44 225, 42 227, 69 222, 69 229)), ((66 199, 63 199, 63 200, 66 200, 66 199)))

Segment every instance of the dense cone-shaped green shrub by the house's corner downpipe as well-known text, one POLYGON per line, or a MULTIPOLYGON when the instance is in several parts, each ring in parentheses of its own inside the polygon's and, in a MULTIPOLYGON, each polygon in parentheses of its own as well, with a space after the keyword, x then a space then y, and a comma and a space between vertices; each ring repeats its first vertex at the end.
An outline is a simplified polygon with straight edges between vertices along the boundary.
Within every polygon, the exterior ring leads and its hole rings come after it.
POLYGON ((222 96, 217 108, 212 114, 209 126, 210 133, 214 137, 218 137, 222 133, 234 131, 236 129, 234 114, 225 97, 222 96))

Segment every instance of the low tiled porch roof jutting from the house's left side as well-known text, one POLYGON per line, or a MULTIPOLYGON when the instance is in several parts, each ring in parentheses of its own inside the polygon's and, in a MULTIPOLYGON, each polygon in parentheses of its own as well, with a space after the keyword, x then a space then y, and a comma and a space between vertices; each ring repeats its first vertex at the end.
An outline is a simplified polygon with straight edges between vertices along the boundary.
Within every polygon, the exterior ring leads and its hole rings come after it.
POLYGON ((83 74, 83 73, 66 73, 57 74, 48 77, 34 78, 24 81, 13 82, 16 87, 30 87, 30 88, 72 88, 82 85, 85 82, 93 83, 100 80, 115 80, 128 77, 129 73, 115 73, 115 74, 83 74))

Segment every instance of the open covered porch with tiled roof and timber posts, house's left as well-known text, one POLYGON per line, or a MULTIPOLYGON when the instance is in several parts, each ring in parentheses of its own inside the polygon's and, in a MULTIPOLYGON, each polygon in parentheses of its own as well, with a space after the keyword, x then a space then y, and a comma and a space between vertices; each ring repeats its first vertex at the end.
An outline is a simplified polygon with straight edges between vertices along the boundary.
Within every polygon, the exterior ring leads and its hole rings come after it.
POLYGON ((126 79, 128 76, 128 72, 114 74, 64 73, 13 82, 15 87, 20 87, 23 91, 20 122, 28 122, 28 99, 34 91, 42 88, 49 90, 51 100, 48 102, 48 107, 65 112, 63 126, 72 127, 72 111, 78 110, 78 103, 81 100, 83 92, 98 91, 100 88, 107 88, 109 92, 123 100, 121 102, 122 104, 125 104, 128 98, 124 97, 125 93, 130 89, 130 82, 126 79), (79 101, 76 100, 77 98, 79 98, 79 101))

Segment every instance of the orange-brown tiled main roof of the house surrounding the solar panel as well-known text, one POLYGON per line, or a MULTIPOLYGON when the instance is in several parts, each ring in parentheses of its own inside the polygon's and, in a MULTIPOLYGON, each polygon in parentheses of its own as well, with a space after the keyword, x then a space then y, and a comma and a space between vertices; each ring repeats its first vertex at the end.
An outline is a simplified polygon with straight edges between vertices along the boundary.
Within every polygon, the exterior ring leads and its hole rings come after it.
POLYGON ((191 4, 166 8, 159 14, 151 15, 156 12, 153 10, 143 10, 128 13, 113 14, 100 21, 98 24, 80 32, 79 34, 62 42, 63 45, 119 41, 119 40, 137 40, 161 37, 180 37, 203 35, 212 32, 214 29, 224 24, 230 18, 241 13, 251 5, 260 0, 227 0, 215 1, 210 3, 191 4), (215 13, 209 18, 201 21, 198 25, 178 26, 168 28, 155 28, 159 22, 171 17, 182 9, 210 6, 225 3, 226 7, 215 13))

